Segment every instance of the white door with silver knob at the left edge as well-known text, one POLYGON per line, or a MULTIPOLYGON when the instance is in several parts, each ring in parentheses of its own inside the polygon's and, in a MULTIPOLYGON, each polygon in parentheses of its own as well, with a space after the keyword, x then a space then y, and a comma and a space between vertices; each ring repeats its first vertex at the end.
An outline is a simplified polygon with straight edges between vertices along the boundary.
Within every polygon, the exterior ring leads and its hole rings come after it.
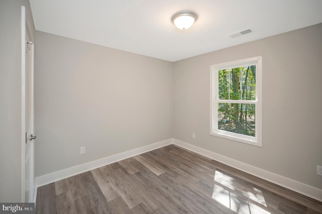
POLYGON ((22 7, 22 202, 34 200, 34 45, 29 39, 22 7))

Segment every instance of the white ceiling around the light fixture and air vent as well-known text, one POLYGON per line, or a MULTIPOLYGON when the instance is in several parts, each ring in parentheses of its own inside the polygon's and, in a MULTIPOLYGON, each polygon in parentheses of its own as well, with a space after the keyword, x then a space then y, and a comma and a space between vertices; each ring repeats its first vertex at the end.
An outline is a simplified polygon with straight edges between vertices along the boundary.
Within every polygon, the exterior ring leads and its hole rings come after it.
POLYGON ((30 0, 36 30, 177 61, 322 22, 321 0, 30 0), (188 30, 171 17, 198 15, 188 30), (251 28, 234 39, 228 35, 251 28))

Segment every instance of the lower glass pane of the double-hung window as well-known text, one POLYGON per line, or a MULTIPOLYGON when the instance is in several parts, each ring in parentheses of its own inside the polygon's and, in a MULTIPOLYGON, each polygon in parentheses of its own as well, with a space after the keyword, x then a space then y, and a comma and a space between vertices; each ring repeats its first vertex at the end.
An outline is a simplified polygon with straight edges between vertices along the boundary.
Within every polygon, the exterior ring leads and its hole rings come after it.
POLYGON ((255 137, 255 104, 218 103, 218 129, 255 137))

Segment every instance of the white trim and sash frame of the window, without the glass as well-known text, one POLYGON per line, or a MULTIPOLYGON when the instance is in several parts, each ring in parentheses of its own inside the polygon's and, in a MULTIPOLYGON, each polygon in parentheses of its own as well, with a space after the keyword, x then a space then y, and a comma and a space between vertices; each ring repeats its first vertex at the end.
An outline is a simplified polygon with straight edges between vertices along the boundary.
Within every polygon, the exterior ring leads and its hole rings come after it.
POLYGON ((210 65, 210 135, 262 147, 262 56, 210 65), (255 100, 220 100, 218 95, 218 70, 256 65, 255 100), (218 102, 255 103, 255 137, 218 130, 218 102))

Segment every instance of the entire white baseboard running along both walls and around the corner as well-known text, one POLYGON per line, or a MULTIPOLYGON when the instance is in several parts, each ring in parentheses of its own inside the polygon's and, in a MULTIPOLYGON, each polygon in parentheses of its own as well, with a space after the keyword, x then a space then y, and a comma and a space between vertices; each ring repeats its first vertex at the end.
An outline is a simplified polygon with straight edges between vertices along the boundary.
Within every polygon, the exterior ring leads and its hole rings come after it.
POLYGON ((175 144, 181 146, 185 149, 198 153, 200 155, 206 156, 213 160, 219 161, 223 164, 231 166, 233 168, 239 169, 241 171, 247 172, 254 176, 263 178, 267 181, 275 183, 277 185, 283 186, 285 188, 291 189, 295 192, 301 193, 303 195, 309 196, 316 200, 322 201, 322 189, 315 188, 313 186, 309 186, 307 184, 292 180, 290 178, 275 174, 273 172, 266 171, 264 169, 249 165, 247 163, 243 163, 237 161, 235 159, 217 154, 215 152, 211 152, 209 150, 194 146, 192 144, 177 140, 177 139, 168 139, 165 141, 160 141, 157 143, 153 143, 147 146, 143 146, 137 149, 133 149, 130 151, 126 151, 123 153, 119 153, 116 155, 112 155, 109 157, 105 157, 99 160, 91 161, 88 163, 84 163, 81 165, 73 166, 67 169, 63 169, 60 171, 52 172, 46 175, 42 175, 35 178, 35 199, 36 201, 36 194, 37 194, 37 187, 43 186, 79 173, 83 173, 101 166, 105 166, 129 157, 133 157, 135 155, 139 155, 154 149, 158 149, 164 146, 168 146, 170 144, 175 144))

